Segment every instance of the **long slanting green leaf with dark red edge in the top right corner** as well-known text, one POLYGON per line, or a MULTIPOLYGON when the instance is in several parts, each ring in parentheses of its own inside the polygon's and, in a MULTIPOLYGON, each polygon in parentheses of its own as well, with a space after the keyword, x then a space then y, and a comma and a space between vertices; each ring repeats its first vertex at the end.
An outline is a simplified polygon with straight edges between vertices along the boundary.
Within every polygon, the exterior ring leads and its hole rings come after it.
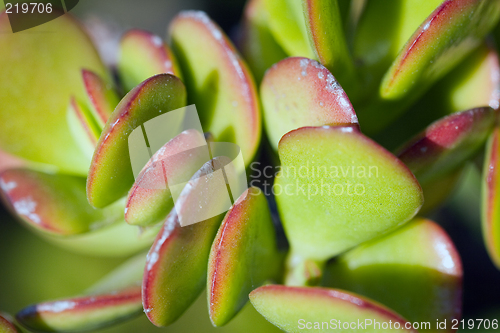
POLYGON ((474 49, 498 21, 497 1, 444 1, 407 41, 378 93, 357 108, 367 133, 378 133, 474 49), (439 35, 439 38, 434 36, 439 35))

